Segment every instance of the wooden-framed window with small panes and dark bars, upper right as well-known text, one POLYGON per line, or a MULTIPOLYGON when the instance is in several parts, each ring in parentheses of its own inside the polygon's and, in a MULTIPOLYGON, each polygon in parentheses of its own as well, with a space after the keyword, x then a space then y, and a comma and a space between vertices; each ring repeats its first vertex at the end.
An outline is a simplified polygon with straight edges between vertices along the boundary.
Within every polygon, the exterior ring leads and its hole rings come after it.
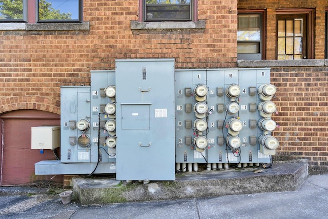
POLYGON ((314 58, 314 9, 276 13, 276 59, 314 58))

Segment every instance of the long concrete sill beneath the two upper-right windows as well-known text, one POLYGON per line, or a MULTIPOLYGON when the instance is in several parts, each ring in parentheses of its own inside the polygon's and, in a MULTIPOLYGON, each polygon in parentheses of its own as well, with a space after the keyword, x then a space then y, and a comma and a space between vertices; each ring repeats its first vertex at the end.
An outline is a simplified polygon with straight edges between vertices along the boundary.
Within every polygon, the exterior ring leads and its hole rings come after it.
POLYGON ((327 66, 328 59, 300 60, 238 60, 238 67, 296 67, 296 66, 327 66))

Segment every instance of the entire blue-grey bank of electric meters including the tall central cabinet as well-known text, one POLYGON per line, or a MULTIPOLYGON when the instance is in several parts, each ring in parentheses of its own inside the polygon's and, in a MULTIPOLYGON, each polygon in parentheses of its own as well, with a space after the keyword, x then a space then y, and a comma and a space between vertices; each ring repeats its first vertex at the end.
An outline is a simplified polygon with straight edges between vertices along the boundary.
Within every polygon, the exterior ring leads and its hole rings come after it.
POLYGON ((175 70, 174 59, 115 65, 91 71, 91 86, 61 87, 60 160, 36 163, 36 175, 172 181, 200 165, 272 162, 279 143, 270 68, 175 70))

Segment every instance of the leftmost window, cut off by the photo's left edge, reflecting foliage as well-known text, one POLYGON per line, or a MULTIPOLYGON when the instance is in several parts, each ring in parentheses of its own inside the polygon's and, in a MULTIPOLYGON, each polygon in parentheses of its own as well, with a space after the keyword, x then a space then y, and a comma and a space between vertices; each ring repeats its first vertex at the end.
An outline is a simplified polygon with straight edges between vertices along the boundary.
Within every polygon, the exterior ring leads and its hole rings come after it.
POLYGON ((27 0, 0 0, 0 22, 27 20, 27 0))

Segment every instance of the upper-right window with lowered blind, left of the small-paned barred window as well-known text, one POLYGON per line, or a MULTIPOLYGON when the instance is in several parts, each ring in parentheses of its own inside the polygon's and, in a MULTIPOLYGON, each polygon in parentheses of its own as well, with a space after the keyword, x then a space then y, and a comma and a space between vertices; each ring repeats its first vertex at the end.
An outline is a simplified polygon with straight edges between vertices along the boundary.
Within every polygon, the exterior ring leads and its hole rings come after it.
POLYGON ((262 59, 264 56, 264 11, 238 9, 237 53, 238 59, 262 59), (255 13, 259 12, 259 13, 255 13), (263 55, 262 55, 263 54, 263 55))

